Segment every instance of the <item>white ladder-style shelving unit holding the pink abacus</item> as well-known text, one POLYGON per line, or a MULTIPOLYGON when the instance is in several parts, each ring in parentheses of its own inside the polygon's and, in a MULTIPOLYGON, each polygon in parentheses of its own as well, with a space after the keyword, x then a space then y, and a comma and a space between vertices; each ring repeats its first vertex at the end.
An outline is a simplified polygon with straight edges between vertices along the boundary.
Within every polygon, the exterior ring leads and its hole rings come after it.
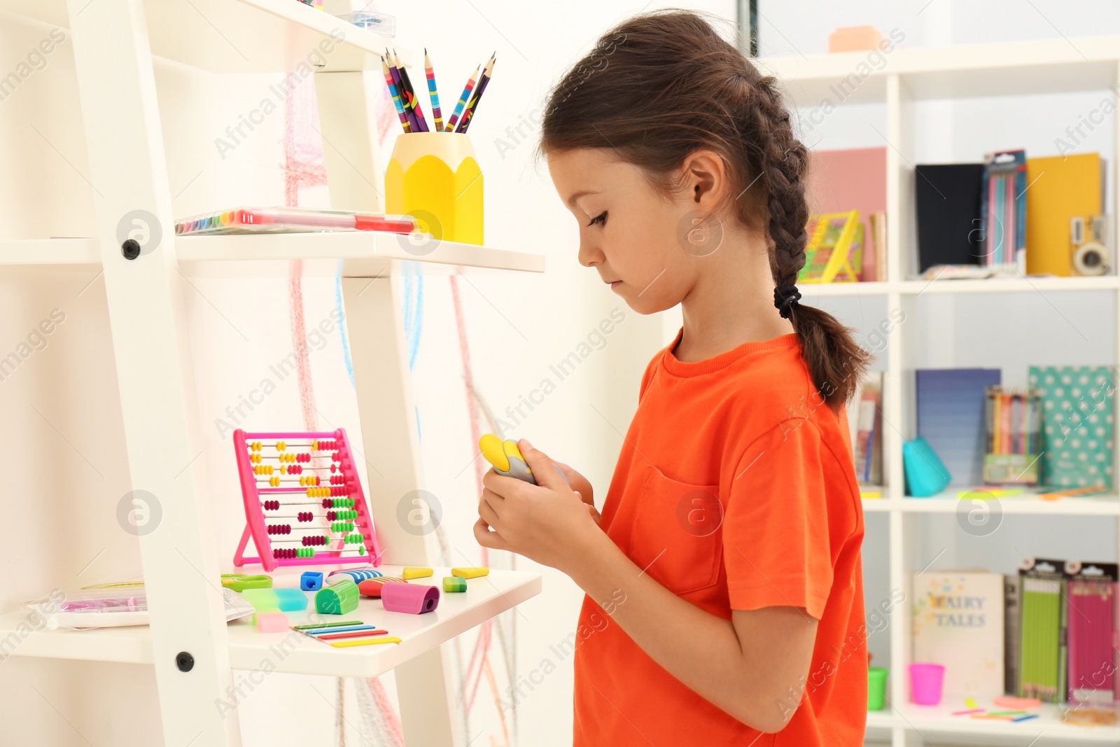
MULTIPOLYGON (((306 260, 312 272, 328 267, 334 274, 342 260, 361 413, 351 430, 360 426, 365 452, 377 455, 379 480, 365 483, 382 560, 392 571, 432 567, 438 557, 433 534, 413 534, 396 519, 398 501, 424 487, 403 339, 401 262, 419 261, 429 272, 542 272, 543 258, 456 242, 417 248, 368 233, 175 236, 153 56, 222 73, 283 75, 314 66, 319 123, 332 144, 332 205, 382 212, 374 185, 383 184, 383 169, 367 92, 384 85, 377 52, 392 44, 385 38, 296 0, 0 0, 0 19, 6 13, 69 29, 99 190, 95 237, 0 241, 0 265, 103 271, 131 483, 159 497, 162 521, 139 538, 150 626, 27 635, 25 610, 0 616, 0 638, 19 636, 12 653, 20 656, 152 665, 167 745, 240 745, 236 711, 222 713, 215 703, 226 697, 233 669, 260 671, 269 661, 279 671, 306 674, 392 670, 407 744, 461 747, 449 654, 441 644, 539 594, 541 577, 494 571, 473 579, 465 595, 442 596, 439 608, 422 616, 385 613, 363 600, 356 614, 375 617, 400 644, 332 650, 308 639, 279 657, 276 644, 286 635, 261 635, 244 622, 226 625, 206 480, 194 458, 202 439, 181 276, 287 272, 295 259, 306 260), (120 224, 138 209, 155 217, 162 237, 129 260, 120 224), (179 652, 194 657, 189 671, 177 666, 179 652)), ((278 586, 297 585, 298 570, 281 569, 278 586)), ((436 580, 447 572, 437 568, 436 580)))

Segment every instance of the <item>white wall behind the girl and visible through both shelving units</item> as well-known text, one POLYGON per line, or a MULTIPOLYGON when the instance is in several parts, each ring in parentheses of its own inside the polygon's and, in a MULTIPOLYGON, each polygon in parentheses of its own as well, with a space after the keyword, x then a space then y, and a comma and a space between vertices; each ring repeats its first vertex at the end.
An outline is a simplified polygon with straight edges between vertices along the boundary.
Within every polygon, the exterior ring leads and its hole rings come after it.
MULTIPOLYGON (((651 7, 656 3, 651 3, 651 7)), ((734 2, 698 2, 734 19, 734 2)), ((588 2, 561 6, 489 2, 424 4, 375 3, 371 9, 395 13, 403 46, 432 54, 445 82, 465 78, 492 50, 497 73, 486 103, 472 128, 475 149, 486 178, 487 243, 543 253, 543 276, 494 274, 460 284, 464 318, 472 347, 475 381, 496 415, 516 404, 548 375, 548 366, 585 340, 591 328, 619 306, 595 272, 576 261, 576 225, 558 200, 543 165, 531 158, 532 141, 513 142, 507 127, 531 118, 550 85, 609 26, 643 9, 640 2, 588 2), (438 22, 432 22, 438 19, 438 22), (505 146, 513 144, 506 150, 505 146)), ((760 3, 763 54, 814 54, 825 50, 827 35, 837 26, 874 24, 883 30, 902 28, 908 46, 973 44, 987 40, 1075 37, 1089 32, 1120 32, 1120 15, 1108 2, 1065 6, 1056 0, 960 0, 814 4, 760 3)), ((0 73, 26 57, 48 29, 0 15, 0 73)), ((214 146, 228 124, 262 97, 276 75, 216 76, 169 63, 156 68, 168 174, 176 215, 189 215, 233 205, 283 203, 283 115, 276 113, 244 143, 223 159, 214 146)), ((444 84, 445 101, 450 83, 444 84)), ((928 103, 927 127, 920 141, 926 162, 976 160, 984 150, 1024 146, 1030 153, 1054 152, 1051 143, 1079 111, 1099 96, 1055 96, 1007 102, 928 103), (1014 116, 993 116, 993 112, 1014 116), (1072 114, 1071 114, 1072 112, 1072 114), (978 123, 982 123, 978 124, 978 123)), ((123 115, 123 113, 122 113, 123 115)), ((818 128, 809 144, 820 148, 883 146, 881 108, 841 109, 818 128)), ((0 237, 91 235, 93 200, 81 131, 77 92, 69 41, 48 57, 9 97, 0 101, 0 237)), ((522 130, 525 132, 525 130, 522 130)), ((535 129, 533 131, 535 136, 535 129)), ((386 142, 386 147, 389 143, 386 142)), ((1110 161, 1107 133, 1086 143, 1110 161)), ((95 187, 95 185, 93 185, 95 187)), ((304 205, 326 206, 324 190, 305 195, 304 205)), ((334 278, 304 281, 308 328, 329 318, 335 308, 334 278)), ((209 475, 211 497, 218 517, 215 527, 222 562, 228 568, 240 536, 243 514, 228 440, 215 420, 270 376, 269 365, 288 355, 288 281, 286 278, 192 279, 192 345, 199 386, 205 451, 200 459, 209 475)), ((0 382, 0 452, 8 458, 10 489, 0 499, 4 525, 4 582, 0 611, 11 611, 27 599, 56 587, 137 578, 140 572, 134 539, 116 524, 115 507, 130 489, 122 450, 122 430, 104 310, 104 283, 93 273, 72 270, 0 272, 0 355, 25 340, 28 333, 58 308, 65 321, 7 380, 0 382)), ((968 299, 980 304, 979 299, 968 299)), ((1008 310, 1030 329, 1070 333, 1074 320, 1090 338, 1073 340, 1062 351, 1071 363, 1112 362, 1114 318, 1105 301, 1071 299, 1063 315, 1029 300, 1010 300, 1008 310), (1105 312, 1109 312, 1105 315, 1105 312), (1105 328, 1108 327, 1108 328, 1105 328)), ((559 460, 581 469, 596 486, 601 505, 614 460, 636 404, 640 374, 648 358, 675 333, 679 314, 643 318, 622 307, 625 321, 601 351, 596 351, 545 402, 517 428, 559 460)), ((861 329, 874 327, 885 314, 881 300, 833 299, 830 307, 861 329)), ((931 299, 915 324, 923 325, 921 366, 1006 365, 1007 377, 1032 356, 1024 328, 992 344, 970 320, 991 309, 974 309, 952 297, 931 299), (948 315, 948 316, 946 316, 948 315), (946 319, 951 321, 946 321, 946 319)), ((457 554, 456 564, 480 558, 470 525, 476 517, 474 470, 464 469, 475 456, 467 421, 458 355, 456 320, 446 278, 424 280, 423 327, 413 385, 419 411, 428 488, 441 501, 445 526, 457 554)), ((338 333, 321 346, 311 345, 311 371, 319 424, 358 432, 353 389, 345 370, 338 333)), ((1064 362, 1064 361, 1063 361, 1064 362)), ((885 361, 880 365, 885 365, 885 361)), ((295 376, 277 381, 277 390, 241 424, 249 429, 298 427, 301 414, 295 376)), ((152 435, 158 438, 158 433, 152 435)), ((1032 520, 1019 519, 1030 523, 1032 520)), ((869 526, 868 599, 886 589, 885 540, 869 526), (881 572, 880 572, 881 571, 881 572)), ((1037 543, 1045 544, 1037 527, 1037 543)), ((1079 524, 1076 531, 1088 529, 1079 524)), ((939 531, 933 523, 928 531, 939 531)), ((1071 527, 1072 536, 1074 529, 1071 527)), ((931 534, 932 535, 932 534, 931 534)), ((1111 542, 1109 534, 1101 542, 1111 542)), ((1055 540, 1049 540, 1053 544, 1055 540)), ((1094 542, 1102 550, 1108 545, 1094 542)), ((1046 545, 1054 551, 1062 547, 1046 545)), ((960 549, 960 560, 992 567, 1014 557, 988 543, 960 549)), ((958 551, 954 549, 953 554, 958 551)), ((1043 554, 1039 552, 1039 554, 1043 554)), ((955 560, 955 559, 954 559, 955 560)), ((492 555, 495 567, 534 568, 523 559, 492 555)), ((942 563, 943 567, 944 563, 942 563)), ((571 738, 571 662, 557 661, 550 646, 572 632, 582 594, 551 569, 544 592, 522 605, 515 615, 517 653, 515 678, 528 676, 544 659, 557 671, 535 684, 511 718, 519 725, 514 744, 564 745, 571 738)), ((469 657, 474 635, 461 639, 469 657)), ((884 636, 885 648, 885 636, 884 636)), ((872 638, 872 651, 879 654, 872 638)), ((883 654, 885 656, 885 653, 883 654)), ((495 666, 505 664, 495 654, 495 666)), ((496 672, 502 688, 503 671, 496 672)), ((383 678, 392 689, 392 678, 383 678)), ((39 661, 11 657, 0 662, 0 745, 155 745, 160 744, 153 678, 144 667, 39 661)), ((351 688, 353 692, 353 688, 351 688)), ((504 694, 504 693, 503 693, 504 694)), ((496 709, 484 682, 472 715, 470 736, 494 734, 501 740, 496 709)), ((335 681, 273 674, 241 706, 246 745, 335 744, 335 681)), ((356 704, 345 706, 351 726, 348 744, 358 744, 356 704)), ((512 726, 512 723, 511 723, 512 726)), ((486 744, 480 737, 475 744, 486 744)))

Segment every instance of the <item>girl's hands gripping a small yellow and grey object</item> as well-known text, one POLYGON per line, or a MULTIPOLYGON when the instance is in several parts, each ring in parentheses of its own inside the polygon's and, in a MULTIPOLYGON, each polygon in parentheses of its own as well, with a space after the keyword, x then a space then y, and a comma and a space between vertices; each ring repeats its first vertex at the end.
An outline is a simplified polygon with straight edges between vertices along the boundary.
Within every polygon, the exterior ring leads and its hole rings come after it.
POLYGON ((572 489, 581 484, 589 488, 590 484, 571 470, 566 471, 572 482, 569 487, 547 455, 524 439, 517 448, 538 484, 498 475, 491 468, 483 477, 475 539, 485 548, 516 552, 563 571, 580 560, 588 533, 600 531, 595 506, 572 489))

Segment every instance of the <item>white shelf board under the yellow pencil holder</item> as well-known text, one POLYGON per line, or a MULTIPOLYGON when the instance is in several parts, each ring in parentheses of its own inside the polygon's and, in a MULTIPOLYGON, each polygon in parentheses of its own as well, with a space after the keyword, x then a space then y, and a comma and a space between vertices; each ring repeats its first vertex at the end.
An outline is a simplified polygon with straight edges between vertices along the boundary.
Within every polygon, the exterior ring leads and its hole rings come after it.
MULTIPOLYGON (((345 260, 348 276, 380 273, 388 261, 544 272, 544 255, 454 241, 418 249, 403 235, 373 231, 176 236, 180 263, 345 260), (419 253, 427 252, 427 253, 419 253)), ((143 261, 139 258, 136 261, 143 261)), ((0 241, 0 265, 101 264, 96 239, 0 241)))

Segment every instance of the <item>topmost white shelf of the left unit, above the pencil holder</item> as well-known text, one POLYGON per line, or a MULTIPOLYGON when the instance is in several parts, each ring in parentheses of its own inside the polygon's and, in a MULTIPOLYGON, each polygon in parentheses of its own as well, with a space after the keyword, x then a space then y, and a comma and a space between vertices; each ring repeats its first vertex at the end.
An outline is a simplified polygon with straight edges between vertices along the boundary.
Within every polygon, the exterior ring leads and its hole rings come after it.
MULTIPOLYGON (((412 52, 392 38, 299 0, 158 0, 143 9, 153 56, 214 73, 295 72, 300 63, 314 64, 308 56, 316 49, 329 50, 323 55, 326 66, 316 68, 325 72, 380 71, 386 46, 410 67, 414 62, 412 52)), ((66 0, 0 0, 0 11, 49 27, 71 26, 66 0)))

